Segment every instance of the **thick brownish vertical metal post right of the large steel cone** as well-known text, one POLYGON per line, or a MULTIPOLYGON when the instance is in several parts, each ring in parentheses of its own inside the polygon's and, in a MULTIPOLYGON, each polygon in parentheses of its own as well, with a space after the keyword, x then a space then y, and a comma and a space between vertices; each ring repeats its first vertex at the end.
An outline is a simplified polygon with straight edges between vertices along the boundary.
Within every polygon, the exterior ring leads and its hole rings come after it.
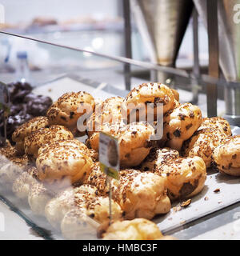
MULTIPOLYGON (((218 46, 218 0, 207 1, 207 31, 209 43, 209 75, 219 77, 219 46, 218 46)), ((206 87, 207 116, 209 118, 218 115, 217 100, 218 90, 216 84, 206 87)))

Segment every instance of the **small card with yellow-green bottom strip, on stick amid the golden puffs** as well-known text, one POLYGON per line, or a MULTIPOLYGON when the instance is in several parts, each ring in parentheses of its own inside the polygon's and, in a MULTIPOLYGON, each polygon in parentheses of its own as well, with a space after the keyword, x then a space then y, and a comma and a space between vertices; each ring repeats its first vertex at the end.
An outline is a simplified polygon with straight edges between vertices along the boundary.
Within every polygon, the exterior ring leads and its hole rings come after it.
POLYGON ((118 139, 100 132, 99 162, 103 173, 111 178, 119 179, 119 146, 118 139))

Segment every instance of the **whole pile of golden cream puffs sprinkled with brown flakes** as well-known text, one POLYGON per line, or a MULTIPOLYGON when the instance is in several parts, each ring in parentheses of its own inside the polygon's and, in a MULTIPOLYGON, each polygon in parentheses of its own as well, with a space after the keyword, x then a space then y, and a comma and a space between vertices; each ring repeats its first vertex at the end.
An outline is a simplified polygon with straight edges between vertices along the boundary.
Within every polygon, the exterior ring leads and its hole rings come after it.
POLYGON ((18 127, 12 140, 14 145, 0 148, 1 186, 68 239, 94 238, 97 230, 104 239, 166 238, 150 219, 168 213, 171 202, 201 192, 207 168, 240 176, 240 137, 231 136, 229 123, 202 118, 198 106, 180 104, 178 92, 162 83, 142 84, 126 98, 104 102, 82 91, 63 94, 46 116, 18 127), (155 106, 162 104, 162 139, 152 142, 154 127, 140 121, 149 109, 130 122, 129 103, 153 103, 156 120, 155 106), (101 116, 87 108, 79 112, 78 106, 85 105, 100 107, 101 116), (83 114, 86 131, 79 132, 83 114), (118 138, 120 149, 120 179, 112 180, 112 222, 109 186, 98 162, 97 124, 118 138), (82 135, 87 135, 86 143, 78 141, 82 135))

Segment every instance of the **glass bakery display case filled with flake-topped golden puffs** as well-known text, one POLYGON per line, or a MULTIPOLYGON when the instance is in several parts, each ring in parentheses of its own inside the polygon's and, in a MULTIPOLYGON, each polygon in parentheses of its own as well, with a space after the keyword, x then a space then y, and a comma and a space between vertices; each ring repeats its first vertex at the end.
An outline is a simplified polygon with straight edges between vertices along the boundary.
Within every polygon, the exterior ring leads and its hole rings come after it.
MULTIPOLYGON (((16 233, 23 219, 43 239, 239 238, 238 137, 231 135, 240 128, 202 120, 207 86, 222 90, 237 82, 9 32, 0 33, 0 43, 1 88, 9 95, 0 112, 0 200, 17 214, 16 233), (153 81, 154 74, 164 81, 153 81), (197 104, 193 86, 200 88, 197 104), (162 104, 157 142, 150 141, 152 126, 128 120, 129 110, 122 123, 120 109, 133 102, 162 104), (111 204, 98 130, 77 126, 82 105, 101 106, 109 118, 102 130, 124 152, 111 204)), ((217 103, 222 114, 224 102, 217 103)), ((85 110, 84 127, 96 125, 98 115, 85 110)))

